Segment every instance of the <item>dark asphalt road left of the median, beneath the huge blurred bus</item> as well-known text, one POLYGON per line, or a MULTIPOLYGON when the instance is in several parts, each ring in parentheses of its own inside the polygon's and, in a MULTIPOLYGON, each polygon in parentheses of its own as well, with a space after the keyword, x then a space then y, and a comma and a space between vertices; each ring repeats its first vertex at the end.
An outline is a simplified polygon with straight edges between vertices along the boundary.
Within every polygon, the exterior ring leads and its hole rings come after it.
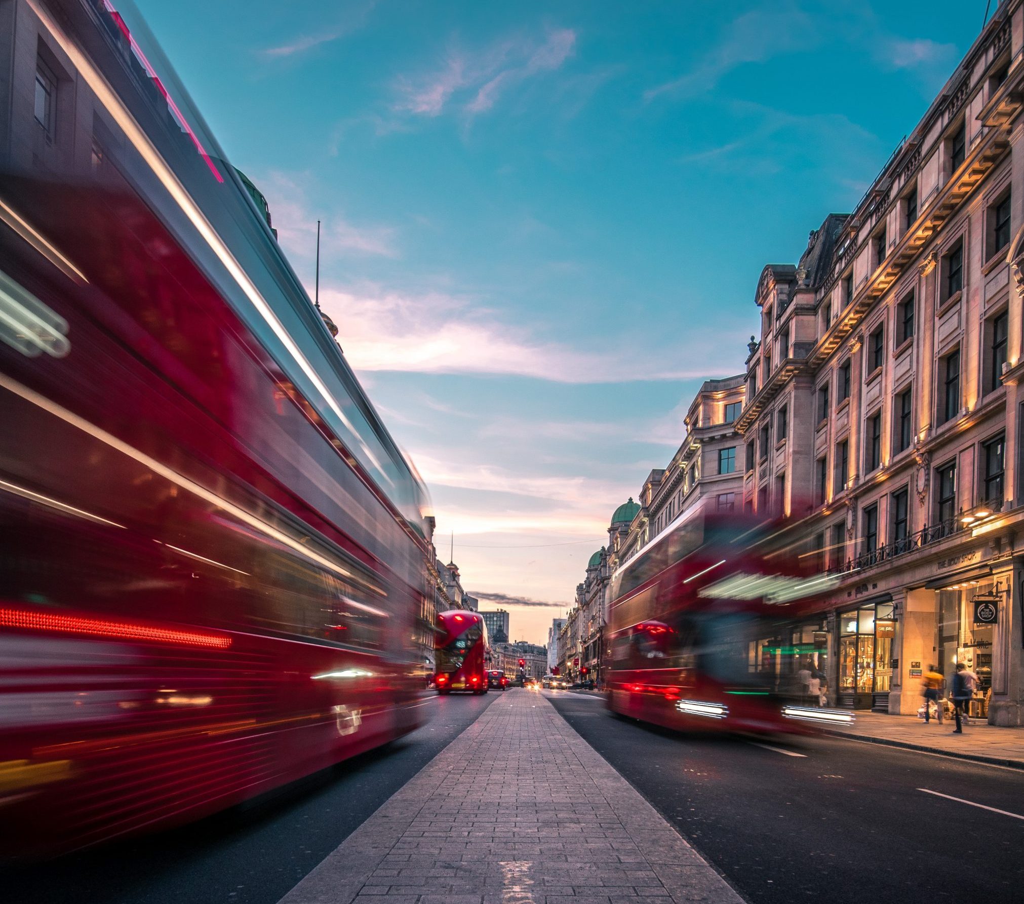
POLYGON ((9 904, 276 904, 497 697, 426 697, 385 747, 188 826, 14 872, 9 904))

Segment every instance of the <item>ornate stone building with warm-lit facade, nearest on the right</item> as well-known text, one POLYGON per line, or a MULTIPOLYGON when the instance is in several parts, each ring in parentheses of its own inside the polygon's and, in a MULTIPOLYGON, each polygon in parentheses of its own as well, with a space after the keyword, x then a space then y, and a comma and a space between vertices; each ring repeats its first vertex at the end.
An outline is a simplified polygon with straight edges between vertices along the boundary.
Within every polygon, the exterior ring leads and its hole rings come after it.
POLYGON ((757 287, 743 505, 840 578, 793 638, 840 704, 913 713, 923 670, 966 661, 974 715, 1024 724, 1022 60, 1010 0, 853 213, 757 287))

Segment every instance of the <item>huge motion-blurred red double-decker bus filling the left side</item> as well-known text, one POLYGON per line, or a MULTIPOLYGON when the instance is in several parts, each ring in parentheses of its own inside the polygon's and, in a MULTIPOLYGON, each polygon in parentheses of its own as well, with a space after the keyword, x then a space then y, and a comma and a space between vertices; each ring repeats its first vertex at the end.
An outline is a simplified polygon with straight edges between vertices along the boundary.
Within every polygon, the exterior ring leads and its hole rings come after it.
POLYGON ((422 486, 153 53, 109 2, 31 7, 0 40, 62 69, 0 111, 0 855, 195 818, 423 712, 422 486))

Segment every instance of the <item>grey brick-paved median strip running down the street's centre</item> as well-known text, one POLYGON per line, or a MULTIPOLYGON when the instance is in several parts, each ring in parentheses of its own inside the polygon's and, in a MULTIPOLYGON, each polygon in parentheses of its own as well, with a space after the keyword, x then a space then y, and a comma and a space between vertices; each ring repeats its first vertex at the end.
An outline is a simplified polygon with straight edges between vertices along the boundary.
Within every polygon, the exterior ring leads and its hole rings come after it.
POLYGON ((281 904, 740 904, 539 693, 502 694, 281 904))

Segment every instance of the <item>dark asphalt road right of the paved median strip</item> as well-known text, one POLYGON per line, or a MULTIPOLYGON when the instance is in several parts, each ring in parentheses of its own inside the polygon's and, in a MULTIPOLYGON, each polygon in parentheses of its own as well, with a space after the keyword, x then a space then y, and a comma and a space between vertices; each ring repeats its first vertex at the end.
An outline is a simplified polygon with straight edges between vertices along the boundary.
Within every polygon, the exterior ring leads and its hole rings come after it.
POLYGON ((754 904, 1024 901, 1024 773, 844 738, 684 736, 545 692, 754 904), (803 756, 791 756, 800 754, 803 756))

